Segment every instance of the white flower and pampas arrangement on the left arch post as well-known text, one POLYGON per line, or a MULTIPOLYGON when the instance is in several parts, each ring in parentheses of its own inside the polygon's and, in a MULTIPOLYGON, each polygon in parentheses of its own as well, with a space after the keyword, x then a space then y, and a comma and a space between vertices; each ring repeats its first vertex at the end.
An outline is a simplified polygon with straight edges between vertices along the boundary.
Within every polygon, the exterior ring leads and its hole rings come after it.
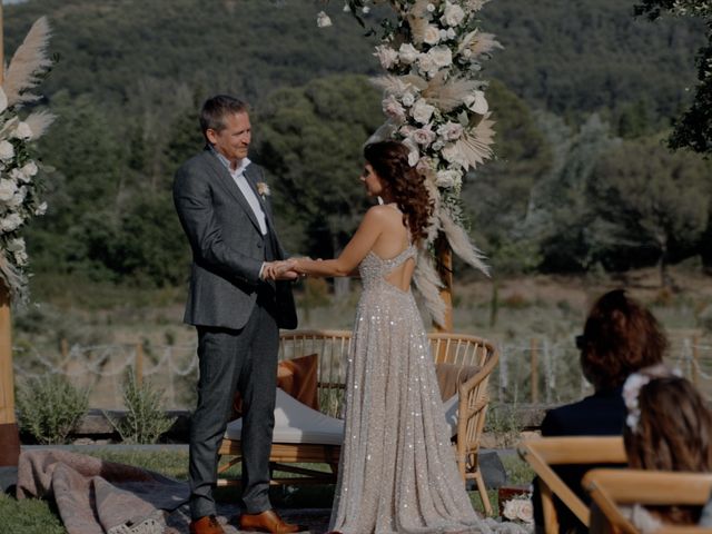
POLYGON ((0 283, 13 297, 27 297, 28 255, 21 231, 37 215, 43 215, 39 181, 40 164, 32 158, 32 142, 50 126, 44 110, 24 118, 21 108, 39 99, 29 89, 37 86, 51 61, 44 49, 49 27, 39 19, 18 48, 0 86, 0 283))

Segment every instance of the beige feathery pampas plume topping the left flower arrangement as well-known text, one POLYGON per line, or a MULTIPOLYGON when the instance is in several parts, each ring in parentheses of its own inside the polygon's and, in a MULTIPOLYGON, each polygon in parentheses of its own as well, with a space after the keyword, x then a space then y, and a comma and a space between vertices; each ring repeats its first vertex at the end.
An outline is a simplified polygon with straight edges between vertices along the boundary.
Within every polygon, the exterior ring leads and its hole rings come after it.
POLYGON ((52 65, 44 50, 48 41, 49 23, 46 17, 41 17, 34 21, 6 70, 2 88, 8 97, 8 106, 31 102, 39 98, 27 90, 37 86, 40 81, 39 76, 52 65))

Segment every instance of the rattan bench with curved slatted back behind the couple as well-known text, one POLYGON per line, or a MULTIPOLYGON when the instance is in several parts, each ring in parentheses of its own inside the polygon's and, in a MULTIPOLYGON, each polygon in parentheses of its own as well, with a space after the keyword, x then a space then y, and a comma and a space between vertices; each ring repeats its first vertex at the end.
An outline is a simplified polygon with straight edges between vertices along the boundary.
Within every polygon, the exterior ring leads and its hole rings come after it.
MULTIPOLYGON (((346 359, 350 344, 349 330, 296 330, 280 335, 279 358, 288 359, 318 354, 319 411, 332 417, 340 415, 346 379, 346 359)), ((487 514, 492 506, 479 472, 477 454, 487 412, 487 384, 498 360, 496 348, 479 337, 464 334, 428 334, 436 364, 476 366, 479 369, 458 385, 457 434, 453 438, 457 466, 464 481, 474 479, 487 514)), ((334 483, 340 446, 315 443, 273 443, 270 463, 274 469, 298 475, 273 478, 273 484, 334 483), (330 472, 307 468, 304 463, 328 464, 330 472), (291 464, 291 465, 290 465, 291 464)), ((225 438, 219 454, 230 459, 219 468, 224 474, 240 459, 240 443, 225 438)), ((218 485, 238 481, 220 478, 218 485)))

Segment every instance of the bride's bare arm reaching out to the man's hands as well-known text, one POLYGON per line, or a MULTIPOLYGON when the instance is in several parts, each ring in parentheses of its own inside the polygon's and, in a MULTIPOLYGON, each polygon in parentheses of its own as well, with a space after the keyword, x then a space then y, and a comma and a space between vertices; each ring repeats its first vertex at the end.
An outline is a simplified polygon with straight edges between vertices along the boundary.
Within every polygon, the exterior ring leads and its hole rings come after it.
POLYGON ((348 241, 346 248, 338 258, 314 260, 306 258, 293 259, 293 269, 300 275, 309 276, 349 276, 360 264, 362 259, 373 248, 376 239, 383 231, 384 225, 387 222, 384 217, 383 207, 374 206, 364 216, 356 234, 348 241))

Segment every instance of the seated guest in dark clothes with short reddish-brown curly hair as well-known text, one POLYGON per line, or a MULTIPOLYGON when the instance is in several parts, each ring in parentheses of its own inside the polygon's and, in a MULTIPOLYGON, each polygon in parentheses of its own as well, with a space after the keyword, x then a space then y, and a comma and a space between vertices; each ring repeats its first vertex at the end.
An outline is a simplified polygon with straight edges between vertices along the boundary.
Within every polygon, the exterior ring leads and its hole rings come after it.
MULTIPOLYGON (((622 388, 637 369, 660 364, 668 340, 655 317, 623 289, 603 295, 589 313, 583 335, 576 337, 581 368, 594 394, 550 411, 542 436, 620 436, 626 411, 622 388)), ((586 471, 602 466, 566 465, 555 468, 561 478, 586 503, 581 487, 586 471)), ((542 526, 538 484, 534 484, 534 520, 542 526)), ((561 532, 587 532, 576 516, 555 500, 561 532)))

